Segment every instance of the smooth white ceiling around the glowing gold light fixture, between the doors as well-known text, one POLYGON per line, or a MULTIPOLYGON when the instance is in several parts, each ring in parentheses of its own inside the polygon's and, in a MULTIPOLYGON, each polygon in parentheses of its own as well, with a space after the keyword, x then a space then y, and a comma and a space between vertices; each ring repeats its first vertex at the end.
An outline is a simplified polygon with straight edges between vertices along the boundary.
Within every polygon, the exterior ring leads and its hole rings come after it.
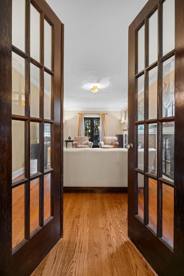
POLYGON ((46 1, 64 23, 64 109, 125 108, 128 27, 147 0, 46 1), (104 78, 110 84, 96 95, 83 88, 104 78))

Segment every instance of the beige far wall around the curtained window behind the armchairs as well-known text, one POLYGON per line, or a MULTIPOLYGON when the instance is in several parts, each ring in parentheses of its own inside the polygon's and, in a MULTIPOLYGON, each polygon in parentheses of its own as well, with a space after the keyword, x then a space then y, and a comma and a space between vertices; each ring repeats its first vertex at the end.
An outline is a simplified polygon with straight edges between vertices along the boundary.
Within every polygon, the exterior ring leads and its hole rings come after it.
MULTIPOLYGON (((64 140, 68 140, 68 136, 74 139, 74 136, 78 136, 78 113, 90 113, 91 111, 68 111, 65 110, 64 112, 64 140)), ((108 113, 106 115, 106 129, 107 129, 107 136, 116 136, 116 134, 122 134, 122 124, 120 123, 121 120, 121 112, 120 111, 98 111, 98 113, 108 113)), ((85 115, 85 114, 84 114, 85 115)), ((95 115, 92 111, 89 114, 95 115)), ((97 115, 99 116, 99 114, 97 115)), ((64 143, 64 147, 66 144, 64 143)), ((72 147, 72 143, 68 143, 67 147, 72 147)))

